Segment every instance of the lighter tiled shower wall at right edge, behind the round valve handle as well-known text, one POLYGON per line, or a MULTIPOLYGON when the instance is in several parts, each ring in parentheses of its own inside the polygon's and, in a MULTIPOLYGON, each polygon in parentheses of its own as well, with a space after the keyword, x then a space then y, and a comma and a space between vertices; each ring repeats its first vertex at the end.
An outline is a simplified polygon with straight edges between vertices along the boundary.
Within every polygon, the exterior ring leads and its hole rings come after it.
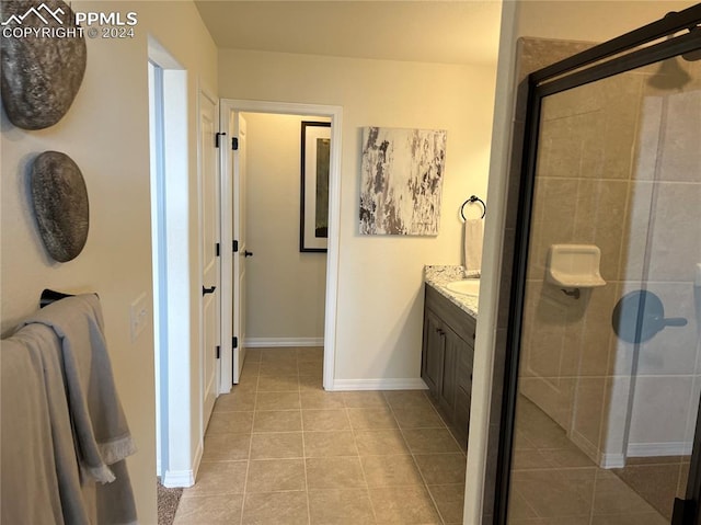
MULTIPOLYGON (((630 237, 641 242, 647 235, 648 259, 642 247, 633 248, 640 255, 629 260, 628 272, 637 275, 640 262, 646 263, 647 289, 662 299, 665 317, 688 324, 666 328, 640 347, 629 456, 690 454, 701 390, 701 305, 694 306, 693 286, 701 263, 701 62, 677 64, 689 75, 683 90, 660 91, 650 85, 650 77, 643 82, 630 237)), ((635 284, 624 283, 621 294, 635 284)), ((630 345, 619 344, 617 356, 614 373, 627 374, 630 345)), ((612 416, 616 412, 612 406, 612 416)))

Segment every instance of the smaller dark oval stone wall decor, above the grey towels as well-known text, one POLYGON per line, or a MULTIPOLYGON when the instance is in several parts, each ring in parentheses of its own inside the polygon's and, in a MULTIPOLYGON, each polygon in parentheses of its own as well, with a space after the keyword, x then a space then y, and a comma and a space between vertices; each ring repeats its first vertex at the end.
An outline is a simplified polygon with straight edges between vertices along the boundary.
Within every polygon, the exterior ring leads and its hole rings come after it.
POLYGON ((42 241, 58 262, 76 259, 88 240, 88 189, 66 153, 45 151, 32 166, 32 204, 42 241))

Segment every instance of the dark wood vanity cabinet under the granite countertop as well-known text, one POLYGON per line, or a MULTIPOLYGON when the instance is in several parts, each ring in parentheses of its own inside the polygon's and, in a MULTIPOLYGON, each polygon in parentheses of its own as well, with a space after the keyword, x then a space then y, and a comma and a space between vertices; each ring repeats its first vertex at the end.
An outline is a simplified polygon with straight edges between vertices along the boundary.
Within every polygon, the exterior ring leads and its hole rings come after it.
POLYGON ((426 285, 421 377, 434 404, 467 448, 475 319, 426 285))

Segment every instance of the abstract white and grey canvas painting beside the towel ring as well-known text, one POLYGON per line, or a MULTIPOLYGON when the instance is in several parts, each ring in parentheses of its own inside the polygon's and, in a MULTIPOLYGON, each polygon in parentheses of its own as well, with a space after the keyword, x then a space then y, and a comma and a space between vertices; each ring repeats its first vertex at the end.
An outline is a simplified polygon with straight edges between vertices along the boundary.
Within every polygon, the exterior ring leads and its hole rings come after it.
POLYGON ((363 129, 360 233, 436 236, 445 130, 363 129))

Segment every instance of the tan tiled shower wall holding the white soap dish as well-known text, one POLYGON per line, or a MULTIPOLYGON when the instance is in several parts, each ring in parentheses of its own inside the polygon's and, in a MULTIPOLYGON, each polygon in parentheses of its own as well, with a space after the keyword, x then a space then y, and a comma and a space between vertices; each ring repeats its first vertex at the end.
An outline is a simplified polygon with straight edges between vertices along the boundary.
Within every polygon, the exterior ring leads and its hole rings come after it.
MULTIPOLYGON (((627 195, 640 85, 614 77, 543 102, 521 343, 520 391, 590 456, 614 342, 610 312, 624 279, 627 195), (544 282, 554 243, 595 244, 607 286, 576 299, 544 282)), ((597 457, 593 457, 598 463, 597 457)))

